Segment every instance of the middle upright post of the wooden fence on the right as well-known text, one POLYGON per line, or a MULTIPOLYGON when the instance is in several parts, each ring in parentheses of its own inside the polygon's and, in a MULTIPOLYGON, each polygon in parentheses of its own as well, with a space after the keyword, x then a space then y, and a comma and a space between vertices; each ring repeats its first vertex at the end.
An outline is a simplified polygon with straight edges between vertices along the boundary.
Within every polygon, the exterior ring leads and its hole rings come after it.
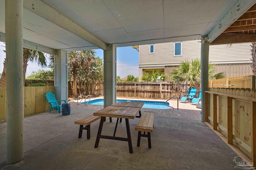
POLYGON ((232 98, 227 97, 227 136, 228 144, 233 144, 232 98))

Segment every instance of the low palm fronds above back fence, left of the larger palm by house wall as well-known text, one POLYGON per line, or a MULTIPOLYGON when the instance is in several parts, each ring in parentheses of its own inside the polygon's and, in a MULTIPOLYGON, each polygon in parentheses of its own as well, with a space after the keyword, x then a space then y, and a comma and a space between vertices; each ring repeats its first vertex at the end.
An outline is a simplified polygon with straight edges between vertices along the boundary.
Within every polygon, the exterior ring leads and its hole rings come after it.
POLYGON ((142 77, 141 80, 144 82, 163 82, 166 80, 168 74, 162 72, 160 70, 146 72, 142 77))

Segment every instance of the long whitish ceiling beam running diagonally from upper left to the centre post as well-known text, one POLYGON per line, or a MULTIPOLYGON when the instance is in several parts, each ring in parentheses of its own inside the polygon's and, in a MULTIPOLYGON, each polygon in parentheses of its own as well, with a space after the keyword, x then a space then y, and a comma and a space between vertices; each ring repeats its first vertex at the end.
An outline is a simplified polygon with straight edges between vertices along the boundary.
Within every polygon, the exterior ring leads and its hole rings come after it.
POLYGON ((23 1, 24 8, 46 18, 47 20, 55 23, 56 25, 66 29, 67 31, 77 35, 78 37, 92 43, 93 45, 99 47, 100 49, 106 50, 108 49, 108 45, 98 39, 98 37, 92 35, 86 29, 81 27, 80 25, 74 23, 74 21, 68 19, 66 16, 60 14, 57 10, 47 5, 41 0, 24 0, 23 1))

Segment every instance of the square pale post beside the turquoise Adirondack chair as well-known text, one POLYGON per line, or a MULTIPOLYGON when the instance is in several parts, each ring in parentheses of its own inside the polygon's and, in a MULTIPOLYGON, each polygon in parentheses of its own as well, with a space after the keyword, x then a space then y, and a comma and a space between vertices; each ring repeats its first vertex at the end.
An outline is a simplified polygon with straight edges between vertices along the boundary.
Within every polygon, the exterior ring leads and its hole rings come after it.
POLYGON ((54 87, 56 99, 68 101, 68 52, 64 50, 54 56, 54 87))

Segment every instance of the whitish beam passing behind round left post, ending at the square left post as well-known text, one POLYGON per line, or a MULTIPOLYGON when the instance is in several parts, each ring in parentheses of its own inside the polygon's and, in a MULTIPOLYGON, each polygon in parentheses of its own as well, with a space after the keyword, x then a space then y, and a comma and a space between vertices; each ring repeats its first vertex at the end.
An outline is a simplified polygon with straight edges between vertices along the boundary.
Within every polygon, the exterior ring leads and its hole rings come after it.
MULTIPOLYGON (((1 32, 0 32, 0 41, 5 42, 5 34, 1 33, 1 32)), ((27 41, 27 40, 23 40, 23 47, 28 48, 28 49, 32 49, 32 50, 36 50, 36 51, 40 51, 42 53, 57 55, 57 50, 56 49, 51 49, 49 47, 45 47, 43 45, 32 43, 32 42, 27 41)))

